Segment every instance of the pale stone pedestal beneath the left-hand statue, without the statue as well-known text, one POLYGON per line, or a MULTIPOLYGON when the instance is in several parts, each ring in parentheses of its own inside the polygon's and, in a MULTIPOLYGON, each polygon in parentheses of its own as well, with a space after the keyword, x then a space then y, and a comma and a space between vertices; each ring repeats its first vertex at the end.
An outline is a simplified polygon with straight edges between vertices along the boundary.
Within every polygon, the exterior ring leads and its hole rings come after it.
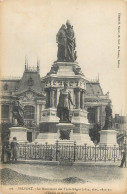
POLYGON ((24 127, 11 127, 10 130, 10 141, 13 140, 13 137, 17 138, 17 141, 20 143, 27 142, 27 128, 24 127))

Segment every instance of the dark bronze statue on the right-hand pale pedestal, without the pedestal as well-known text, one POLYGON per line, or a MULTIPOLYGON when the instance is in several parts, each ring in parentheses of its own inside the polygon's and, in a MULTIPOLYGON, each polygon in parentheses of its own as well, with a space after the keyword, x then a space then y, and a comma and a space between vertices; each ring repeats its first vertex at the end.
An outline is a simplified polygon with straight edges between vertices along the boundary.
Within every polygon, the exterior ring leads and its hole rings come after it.
POLYGON ((113 118, 112 118, 112 108, 111 103, 109 102, 105 108, 106 117, 105 117, 105 125, 103 127, 104 130, 108 130, 112 128, 113 118))

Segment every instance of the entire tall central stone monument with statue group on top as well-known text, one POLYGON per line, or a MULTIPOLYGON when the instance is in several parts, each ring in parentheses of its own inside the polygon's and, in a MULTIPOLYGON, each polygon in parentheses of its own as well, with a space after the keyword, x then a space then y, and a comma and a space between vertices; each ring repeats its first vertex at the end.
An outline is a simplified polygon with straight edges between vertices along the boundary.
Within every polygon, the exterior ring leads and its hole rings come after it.
POLYGON ((56 140, 64 140, 93 145, 84 106, 88 80, 76 61, 75 34, 69 21, 59 29, 56 42, 57 61, 42 79, 46 106, 41 113, 40 133, 35 142, 54 144, 56 140))

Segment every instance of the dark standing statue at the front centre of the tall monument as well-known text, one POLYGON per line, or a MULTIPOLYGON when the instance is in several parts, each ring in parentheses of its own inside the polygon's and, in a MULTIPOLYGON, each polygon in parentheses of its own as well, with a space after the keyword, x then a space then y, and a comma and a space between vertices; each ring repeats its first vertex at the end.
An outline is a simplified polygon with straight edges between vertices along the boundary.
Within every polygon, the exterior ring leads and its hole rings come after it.
POLYGON ((70 91, 67 89, 67 83, 64 82, 64 89, 60 90, 59 103, 57 106, 57 116, 60 118, 60 122, 71 122, 69 119, 70 103, 72 105, 72 99, 70 91))

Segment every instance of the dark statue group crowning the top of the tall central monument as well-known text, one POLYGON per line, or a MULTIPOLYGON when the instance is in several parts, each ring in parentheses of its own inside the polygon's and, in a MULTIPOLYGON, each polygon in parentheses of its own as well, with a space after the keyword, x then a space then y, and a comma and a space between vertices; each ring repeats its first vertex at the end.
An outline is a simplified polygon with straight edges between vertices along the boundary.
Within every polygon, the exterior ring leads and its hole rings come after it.
POLYGON ((67 20, 66 26, 63 24, 56 35, 56 42, 58 44, 57 60, 74 62, 77 58, 75 51, 75 34, 73 26, 67 20))

